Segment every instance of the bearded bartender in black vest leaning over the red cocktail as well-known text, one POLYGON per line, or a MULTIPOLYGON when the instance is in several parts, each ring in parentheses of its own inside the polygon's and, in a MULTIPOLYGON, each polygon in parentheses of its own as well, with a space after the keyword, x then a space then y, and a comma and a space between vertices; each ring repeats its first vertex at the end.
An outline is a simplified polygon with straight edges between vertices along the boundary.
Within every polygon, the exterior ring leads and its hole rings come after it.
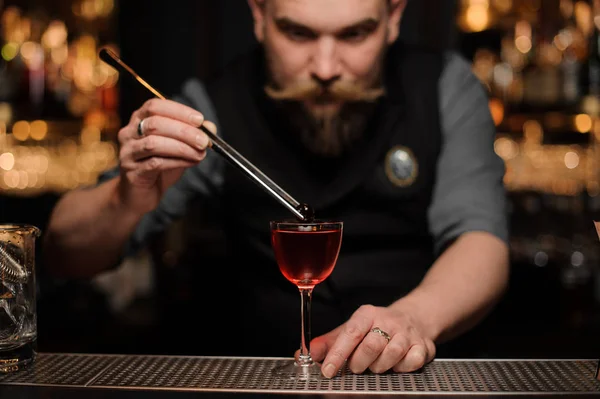
POLYGON ((457 54, 398 40, 405 0, 248 3, 257 48, 132 114, 119 132, 119 168, 57 204, 48 265, 94 276, 194 198, 213 199, 228 257, 205 264, 197 253, 194 267, 224 271, 197 282, 221 295, 190 318, 224 355, 292 354, 298 292, 278 270, 269 232, 269 221, 290 215, 207 150, 204 125, 318 218, 344 222, 337 265, 313 295, 312 354, 323 374, 346 363, 355 373, 416 370, 480 322, 507 285, 504 165, 486 93, 457 54), (206 308, 218 309, 218 322, 206 308))

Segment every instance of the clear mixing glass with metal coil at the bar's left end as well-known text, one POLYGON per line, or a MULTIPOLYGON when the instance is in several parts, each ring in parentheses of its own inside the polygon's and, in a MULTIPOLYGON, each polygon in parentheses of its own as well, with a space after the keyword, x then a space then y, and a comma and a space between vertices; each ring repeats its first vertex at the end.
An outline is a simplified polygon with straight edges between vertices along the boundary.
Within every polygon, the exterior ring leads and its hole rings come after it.
POLYGON ((37 339, 35 240, 40 230, 0 225, 0 372, 35 359, 37 339))

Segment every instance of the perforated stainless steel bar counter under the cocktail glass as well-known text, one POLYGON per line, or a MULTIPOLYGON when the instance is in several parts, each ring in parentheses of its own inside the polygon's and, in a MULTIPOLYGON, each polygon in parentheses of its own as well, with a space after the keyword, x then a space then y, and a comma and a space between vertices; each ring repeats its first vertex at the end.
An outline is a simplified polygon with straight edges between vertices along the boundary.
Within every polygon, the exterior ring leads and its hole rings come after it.
POLYGON ((0 374, 0 398, 275 398, 595 395, 596 359, 436 359, 415 373, 298 381, 271 370, 285 358, 41 353, 0 374))

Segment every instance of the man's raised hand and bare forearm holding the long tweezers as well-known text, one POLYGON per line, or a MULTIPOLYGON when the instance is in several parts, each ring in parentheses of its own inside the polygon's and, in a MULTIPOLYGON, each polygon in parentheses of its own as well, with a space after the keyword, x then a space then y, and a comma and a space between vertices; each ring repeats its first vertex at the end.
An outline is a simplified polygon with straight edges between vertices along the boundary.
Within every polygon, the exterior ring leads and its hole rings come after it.
POLYGON ((44 238, 52 272, 88 278, 113 267, 144 214, 204 159, 210 139, 200 126, 216 134, 201 113, 171 100, 152 99, 135 111, 118 135, 120 175, 72 190, 54 208, 44 238))

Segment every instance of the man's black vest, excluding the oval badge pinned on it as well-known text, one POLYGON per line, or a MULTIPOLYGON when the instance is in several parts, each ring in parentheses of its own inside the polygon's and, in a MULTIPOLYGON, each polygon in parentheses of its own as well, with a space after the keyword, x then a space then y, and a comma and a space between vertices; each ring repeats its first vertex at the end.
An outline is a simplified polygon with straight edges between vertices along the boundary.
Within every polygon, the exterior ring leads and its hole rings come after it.
MULTIPOLYGON (((323 315, 332 328, 361 304, 388 305, 403 296, 421 281, 434 260, 427 211, 441 146, 442 67, 440 53, 400 43, 390 48, 387 95, 377 105, 364 140, 335 163, 327 183, 311 174, 314 168, 286 143, 285 134, 292 132, 270 129, 270 116, 263 115, 259 106, 257 82, 264 76, 260 49, 207 84, 222 137, 297 200, 312 205, 317 218, 344 222, 336 267, 313 297, 318 301, 315 313, 327 307, 336 314, 337 320, 323 315), (395 146, 414 155, 418 174, 412 184, 395 184, 386 173, 386 155, 395 146)), ((291 306, 287 311, 295 321, 297 289, 279 272, 269 235, 269 221, 293 215, 229 165, 223 201, 230 267, 253 287, 254 294, 264 296, 260 303, 249 302, 255 308, 277 307, 283 306, 279 294, 293 295, 293 304, 286 306, 291 306)), ((319 331, 317 321, 314 325, 319 331)), ((292 338, 297 340, 297 334, 292 338)))

